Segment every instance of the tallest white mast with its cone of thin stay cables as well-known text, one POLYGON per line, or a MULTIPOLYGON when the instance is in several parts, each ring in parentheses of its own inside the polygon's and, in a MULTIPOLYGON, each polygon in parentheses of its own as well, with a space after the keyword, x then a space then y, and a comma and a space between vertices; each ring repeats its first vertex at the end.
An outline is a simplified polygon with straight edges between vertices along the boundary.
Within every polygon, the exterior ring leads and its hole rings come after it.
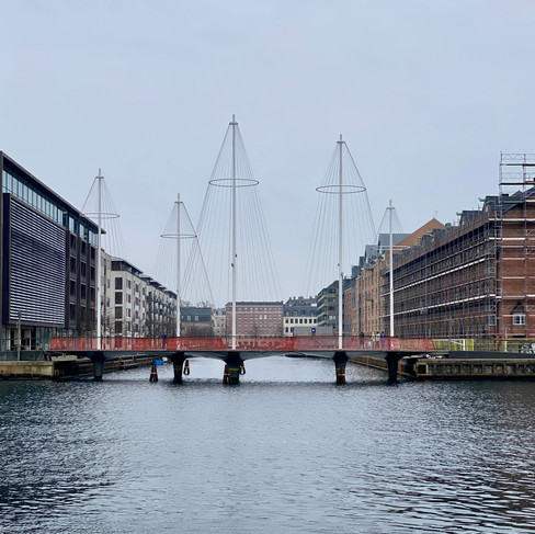
MULTIPOLYGON (((278 276, 259 194, 259 181, 235 116, 229 123, 197 224, 218 306, 278 300, 278 276)), ((232 320, 232 337, 236 337, 232 320)))

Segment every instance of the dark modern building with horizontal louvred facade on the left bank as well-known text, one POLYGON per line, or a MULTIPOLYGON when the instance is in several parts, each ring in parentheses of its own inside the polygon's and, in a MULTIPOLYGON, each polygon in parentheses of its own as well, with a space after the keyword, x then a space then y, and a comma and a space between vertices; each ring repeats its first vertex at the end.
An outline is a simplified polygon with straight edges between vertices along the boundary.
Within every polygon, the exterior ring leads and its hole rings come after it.
POLYGON ((94 334, 96 225, 0 151, 1 350, 94 334))

